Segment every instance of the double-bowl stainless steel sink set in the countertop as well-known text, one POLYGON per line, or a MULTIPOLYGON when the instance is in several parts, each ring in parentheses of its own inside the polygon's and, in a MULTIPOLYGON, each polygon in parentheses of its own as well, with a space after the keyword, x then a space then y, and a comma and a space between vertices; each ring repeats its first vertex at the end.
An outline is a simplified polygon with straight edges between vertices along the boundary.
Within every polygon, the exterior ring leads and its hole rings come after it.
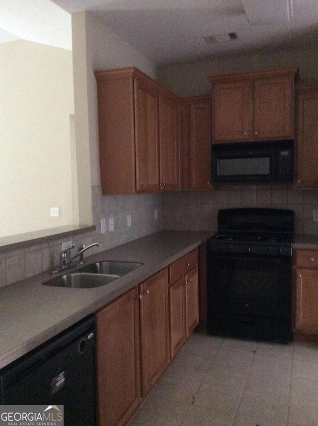
POLYGON ((119 275, 115 274, 98 275, 93 273, 73 272, 46 281, 43 285, 69 288, 95 288, 108 284, 117 278, 119 278, 119 275))

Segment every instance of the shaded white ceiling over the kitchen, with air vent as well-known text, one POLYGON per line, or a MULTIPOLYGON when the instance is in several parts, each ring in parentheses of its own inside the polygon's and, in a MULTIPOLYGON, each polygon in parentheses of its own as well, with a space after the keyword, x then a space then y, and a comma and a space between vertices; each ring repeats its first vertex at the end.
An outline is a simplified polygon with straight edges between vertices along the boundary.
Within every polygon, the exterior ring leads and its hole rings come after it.
POLYGON ((318 0, 53 1, 70 13, 90 11, 156 63, 318 45, 318 0), (290 5, 290 20, 268 23, 277 13, 284 15, 290 5), (268 16, 261 19, 263 14, 268 16), (239 39, 210 45, 204 40, 206 36, 229 32, 236 32, 239 39))

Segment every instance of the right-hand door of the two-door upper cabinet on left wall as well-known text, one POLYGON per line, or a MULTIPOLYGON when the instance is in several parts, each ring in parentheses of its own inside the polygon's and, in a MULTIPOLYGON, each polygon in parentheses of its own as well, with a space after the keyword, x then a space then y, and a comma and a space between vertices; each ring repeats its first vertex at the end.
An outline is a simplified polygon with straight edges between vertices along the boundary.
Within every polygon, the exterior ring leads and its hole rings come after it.
POLYGON ((179 189, 178 102, 159 94, 160 189, 179 189))

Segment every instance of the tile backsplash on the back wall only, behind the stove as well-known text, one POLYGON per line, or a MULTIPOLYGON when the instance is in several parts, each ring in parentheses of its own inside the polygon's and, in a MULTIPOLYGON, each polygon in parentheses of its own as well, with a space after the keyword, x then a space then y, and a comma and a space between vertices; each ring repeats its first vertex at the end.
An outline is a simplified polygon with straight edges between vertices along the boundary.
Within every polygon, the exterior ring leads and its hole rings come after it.
POLYGON ((318 191, 295 191, 284 185, 224 185, 209 192, 178 192, 163 196, 166 229, 216 231, 219 209, 268 207, 295 212, 295 233, 318 235, 318 191))

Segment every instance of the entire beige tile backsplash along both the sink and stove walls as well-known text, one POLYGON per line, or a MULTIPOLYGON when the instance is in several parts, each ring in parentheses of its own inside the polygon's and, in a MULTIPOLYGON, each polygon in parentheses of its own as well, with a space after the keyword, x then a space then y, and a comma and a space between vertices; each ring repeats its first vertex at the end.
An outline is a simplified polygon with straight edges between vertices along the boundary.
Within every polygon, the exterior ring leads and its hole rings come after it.
POLYGON ((106 196, 101 195, 100 186, 94 186, 92 209, 96 231, 1 253, 0 286, 52 270, 58 264, 63 241, 72 239, 77 246, 101 242, 100 248, 90 251, 93 254, 161 229, 216 231, 219 209, 234 207, 291 209, 295 212, 297 234, 318 235, 318 222, 313 220, 313 211, 318 210, 318 191, 294 191, 289 186, 275 185, 225 185, 209 192, 106 196), (127 227, 127 215, 131 215, 131 227, 127 227), (111 217, 113 232, 108 227, 111 217), (101 219, 106 220, 105 234, 100 232, 101 219))

